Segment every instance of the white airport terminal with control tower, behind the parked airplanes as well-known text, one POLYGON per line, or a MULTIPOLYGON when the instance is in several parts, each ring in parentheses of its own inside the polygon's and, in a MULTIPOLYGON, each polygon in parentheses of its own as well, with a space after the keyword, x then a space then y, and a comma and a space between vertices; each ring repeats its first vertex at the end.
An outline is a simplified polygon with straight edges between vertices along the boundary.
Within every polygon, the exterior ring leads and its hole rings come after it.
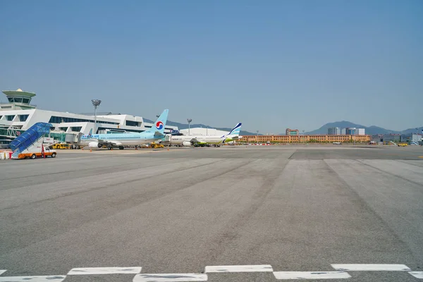
MULTIPOLYGON (((94 114, 71 114, 46 111, 31 104, 36 94, 23 90, 3 91, 7 104, 0 104, 0 145, 7 145, 17 135, 38 122, 51 123, 51 137, 61 142, 76 142, 78 135, 94 130, 94 114)), ((141 116, 127 114, 97 114, 97 133, 143 132, 153 126, 141 116)), ((165 133, 178 130, 177 126, 166 125, 165 133)))

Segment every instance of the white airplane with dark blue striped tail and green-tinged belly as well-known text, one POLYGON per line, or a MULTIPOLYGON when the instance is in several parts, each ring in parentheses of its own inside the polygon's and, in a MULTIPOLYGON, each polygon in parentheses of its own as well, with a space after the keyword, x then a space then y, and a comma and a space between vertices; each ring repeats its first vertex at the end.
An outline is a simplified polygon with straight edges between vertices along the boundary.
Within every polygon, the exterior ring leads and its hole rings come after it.
POLYGON ((238 140, 240 136, 242 123, 238 123, 230 133, 226 135, 166 135, 164 143, 170 143, 172 145, 183 145, 183 146, 193 146, 193 145, 216 145, 220 146, 224 143, 238 140))

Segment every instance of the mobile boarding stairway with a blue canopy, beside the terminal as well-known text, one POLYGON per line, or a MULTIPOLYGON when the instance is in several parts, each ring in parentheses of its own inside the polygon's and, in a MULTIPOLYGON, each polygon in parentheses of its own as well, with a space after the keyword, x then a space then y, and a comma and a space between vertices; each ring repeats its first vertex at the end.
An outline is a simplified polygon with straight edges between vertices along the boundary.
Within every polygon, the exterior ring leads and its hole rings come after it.
POLYGON ((51 123, 35 123, 9 145, 13 151, 11 159, 22 159, 28 154, 41 153, 44 136, 50 133, 51 123))

